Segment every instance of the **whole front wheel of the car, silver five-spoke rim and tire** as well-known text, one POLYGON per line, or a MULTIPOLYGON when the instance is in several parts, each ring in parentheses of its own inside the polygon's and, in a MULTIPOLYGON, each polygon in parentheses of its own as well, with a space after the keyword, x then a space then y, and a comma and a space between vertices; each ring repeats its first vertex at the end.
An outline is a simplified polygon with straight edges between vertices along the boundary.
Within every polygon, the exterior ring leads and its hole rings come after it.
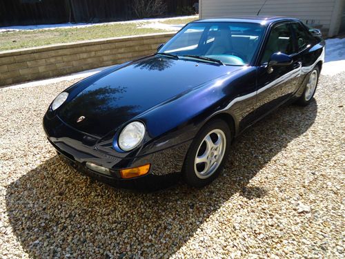
POLYGON ((187 184, 202 187, 223 170, 230 149, 231 132, 221 119, 208 122, 197 134, 186 155, 183 176, 187 184))

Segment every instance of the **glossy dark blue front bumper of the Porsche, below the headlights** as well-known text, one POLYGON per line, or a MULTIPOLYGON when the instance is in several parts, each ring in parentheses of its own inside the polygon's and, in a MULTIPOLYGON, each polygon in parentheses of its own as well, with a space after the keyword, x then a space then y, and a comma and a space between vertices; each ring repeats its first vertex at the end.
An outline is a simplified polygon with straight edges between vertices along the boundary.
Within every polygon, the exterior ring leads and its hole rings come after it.
POLYGON ((119 188, 132 189, 141 186, 168 184, 174 177, 171 174, 179 173, 184 163, 184 157, 192 140, 172 146, 155 153, 137 155, 136 157, 121 158, 97 149, 97 139, 71 128, 58 116, 43 118, 43 128, 48 141, 57 149, 57 152, 74 166, 78 171, 89 175, 101 182, 119 188), (86 162, 92 162, 110 169, 110 175, 92 171, 86 167, 86 162), (141 166, 150 163, 148 174, 132 179, 122 179, 119 169, 141 166))

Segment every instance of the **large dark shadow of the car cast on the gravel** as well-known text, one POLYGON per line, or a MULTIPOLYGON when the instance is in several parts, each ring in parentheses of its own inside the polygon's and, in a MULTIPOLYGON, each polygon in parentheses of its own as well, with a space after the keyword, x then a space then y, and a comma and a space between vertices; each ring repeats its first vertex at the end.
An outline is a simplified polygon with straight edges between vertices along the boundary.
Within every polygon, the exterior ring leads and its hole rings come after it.
POLYGON ((52 157, 7 187, 10 224, 31 257, 169 256, 233 195, 268 195, 270 190, 248 183, 316 115, 315 101, 279 108, 239 138, 222 175, 204 189, 176 184, 155 193, 121 191, 52 157))

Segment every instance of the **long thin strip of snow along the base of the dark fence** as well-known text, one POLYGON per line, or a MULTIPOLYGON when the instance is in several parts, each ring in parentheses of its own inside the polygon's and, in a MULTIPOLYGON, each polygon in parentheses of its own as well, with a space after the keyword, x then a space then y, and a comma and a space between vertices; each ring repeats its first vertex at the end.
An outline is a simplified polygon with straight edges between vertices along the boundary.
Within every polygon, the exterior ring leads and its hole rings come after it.
MULTIPOLYGON (((19 31, 19 30, 54 30, 58 28, 83 28, 83 27, 91 27, 91 26, 110 25, 110 24, 115 24, 115 23, 143 23, 143 22, 159 23, 159 21, 168 21, 168 20, 175 20, 175 19, 189 19, 189 18, 197 19, 197 17, 198 17, 197 15, 190 15, 190 16, 170 17, 170 18, 147 18, 147 19, 137 19, 137 20, 130 20, 130 21, 112 21, 112 22, 106 22, 106 23, 58 23, 58 24, 41 24, 41 25, 29 25, 29 26, 8 26, 8 27, 0 27, 0 33, 10 32, 10 31, 19 31)), ((166 26, 169 26, 169 25, 166 24, 166 26)), ((179 28, 175 30, 179 30, 179 28)))

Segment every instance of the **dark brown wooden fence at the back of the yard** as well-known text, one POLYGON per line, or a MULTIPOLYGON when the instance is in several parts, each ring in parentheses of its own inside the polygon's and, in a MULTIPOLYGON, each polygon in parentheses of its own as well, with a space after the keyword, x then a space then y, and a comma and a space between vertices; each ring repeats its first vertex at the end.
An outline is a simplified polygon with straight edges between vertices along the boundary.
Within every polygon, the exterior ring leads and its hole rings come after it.
MULTIPOLYGON (((165 15, 198 0, 164 0, 165 15)), ((132 0, 0 0, 0 26, 134 19, 132 0)))

